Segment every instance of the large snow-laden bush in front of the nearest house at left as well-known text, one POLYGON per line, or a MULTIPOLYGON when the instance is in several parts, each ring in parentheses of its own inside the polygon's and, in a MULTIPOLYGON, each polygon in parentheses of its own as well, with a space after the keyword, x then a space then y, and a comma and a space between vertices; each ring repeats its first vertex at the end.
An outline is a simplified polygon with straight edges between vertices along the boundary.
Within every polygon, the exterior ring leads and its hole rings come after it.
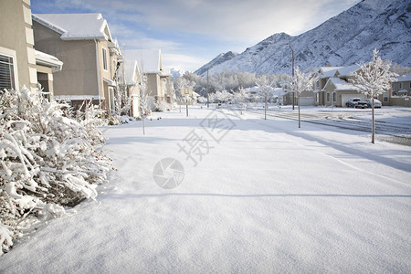
POLYGON ((0 93, 0 252, 34 217, 96 197, 107 179, 111 165, 96 121, 87 111, 83 121, 70 119, 67 107, 26 89, 0 93))

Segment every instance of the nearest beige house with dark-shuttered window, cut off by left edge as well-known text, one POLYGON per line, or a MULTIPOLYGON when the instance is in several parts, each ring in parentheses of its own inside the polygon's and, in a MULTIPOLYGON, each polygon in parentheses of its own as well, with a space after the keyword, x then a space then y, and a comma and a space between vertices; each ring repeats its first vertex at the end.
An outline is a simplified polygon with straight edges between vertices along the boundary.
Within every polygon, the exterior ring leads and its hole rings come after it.
POLYGON ((0 90, 23 86, 53 94, 53 73, 63 63, 35 49, 29 0, 2 0, 0 9, 0 90))

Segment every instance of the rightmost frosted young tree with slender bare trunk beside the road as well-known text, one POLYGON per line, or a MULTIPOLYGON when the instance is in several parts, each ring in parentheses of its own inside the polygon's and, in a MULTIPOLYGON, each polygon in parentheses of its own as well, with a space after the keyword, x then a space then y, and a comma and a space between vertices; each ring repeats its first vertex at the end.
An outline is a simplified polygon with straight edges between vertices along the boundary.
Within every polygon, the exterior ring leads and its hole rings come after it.
POLYGON ((385 90, 391 89, 391 83, 395 81, 397 74, 390 71, 391 61, 383 60, 378 56, 376 48, 373 52, 373 60, 362 65, 353 73, 353 84, 367 97, 372 99, 372 137, 371 142, 375 142, 374 128, 374 98, 385 90))

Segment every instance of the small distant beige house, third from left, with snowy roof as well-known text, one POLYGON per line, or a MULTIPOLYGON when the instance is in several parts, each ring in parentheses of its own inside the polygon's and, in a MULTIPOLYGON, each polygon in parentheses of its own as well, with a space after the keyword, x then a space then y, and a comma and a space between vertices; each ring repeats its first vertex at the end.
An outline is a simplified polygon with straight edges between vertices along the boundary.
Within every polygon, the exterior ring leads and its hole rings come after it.
POLYGON ((171 91, 170 69, 163 68, 160 49, 133 50, 139 70, 147 76, 149 108, 155 110, 155 104, 165 100, 171 91))

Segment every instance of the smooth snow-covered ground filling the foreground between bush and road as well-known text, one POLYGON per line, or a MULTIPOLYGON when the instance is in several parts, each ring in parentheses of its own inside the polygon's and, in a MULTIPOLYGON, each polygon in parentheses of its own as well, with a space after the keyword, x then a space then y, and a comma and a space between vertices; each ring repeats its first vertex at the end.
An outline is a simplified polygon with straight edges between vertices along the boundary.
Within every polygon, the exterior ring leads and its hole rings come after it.
POLYGON ((409 146, 249 112, 157 116, 145 136, 107 128, 110 184, 0 272, 411 272, 409 146), (172 189, 164 158, 184 167, 172 189))

